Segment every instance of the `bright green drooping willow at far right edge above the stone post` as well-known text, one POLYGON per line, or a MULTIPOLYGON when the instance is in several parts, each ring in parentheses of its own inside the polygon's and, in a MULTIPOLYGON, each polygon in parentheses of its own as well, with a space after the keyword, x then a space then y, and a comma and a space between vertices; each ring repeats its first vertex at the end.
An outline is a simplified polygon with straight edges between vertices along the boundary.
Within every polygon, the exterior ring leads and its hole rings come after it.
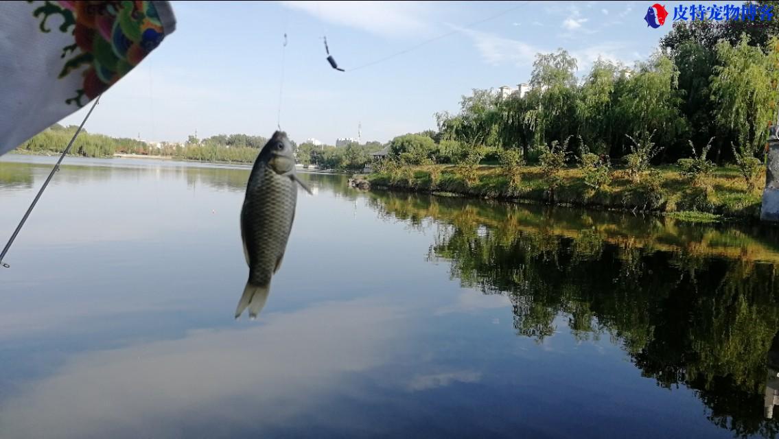
POLYGON ((711 99, 716 118, 739 146, 758 153, 768 139, 768 128, 777 118, 779 101, 779 39, 772 38, 766 51, 742 37, 735 46, 717 44, 719 64, 711 79, 711 99))

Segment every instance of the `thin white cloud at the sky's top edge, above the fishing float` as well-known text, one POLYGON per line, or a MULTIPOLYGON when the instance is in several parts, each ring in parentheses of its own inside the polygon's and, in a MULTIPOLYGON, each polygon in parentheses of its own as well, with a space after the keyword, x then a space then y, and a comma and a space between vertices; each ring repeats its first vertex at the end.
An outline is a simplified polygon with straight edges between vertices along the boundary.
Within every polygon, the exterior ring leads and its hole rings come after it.
POLYGON ((428 33, 431 10, 424 2, 281 2, 315 19, 386 37, 428 33))

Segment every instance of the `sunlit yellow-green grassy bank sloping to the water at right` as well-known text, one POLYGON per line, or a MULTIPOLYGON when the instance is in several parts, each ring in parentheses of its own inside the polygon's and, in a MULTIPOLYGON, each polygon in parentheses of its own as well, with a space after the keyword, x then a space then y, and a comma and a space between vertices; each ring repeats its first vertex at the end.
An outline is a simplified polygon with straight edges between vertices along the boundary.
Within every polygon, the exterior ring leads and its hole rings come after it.
POLYGON ((520 182, 513 189, 509 189, 505 172, 492 166, 478 167, 471 184, 467 184, 463 173, 453 165, 401 168, 392 174, 375 173, 366 178, 373 188, 636 212, 674 212, 685 220, 760 218, 762 185, 749 191, 735 167, 717 168, 695 186, 679 174, 678 167, 655 167, 654 170, 657 170, 655 177, 647 173, 639 182, 631 181, 626 170, 614 170, 612 182, 600 189, 590 188, 578 168, 562 170, 559 186, 554 189, 549 188, 541 167, 522 167, 520 182))

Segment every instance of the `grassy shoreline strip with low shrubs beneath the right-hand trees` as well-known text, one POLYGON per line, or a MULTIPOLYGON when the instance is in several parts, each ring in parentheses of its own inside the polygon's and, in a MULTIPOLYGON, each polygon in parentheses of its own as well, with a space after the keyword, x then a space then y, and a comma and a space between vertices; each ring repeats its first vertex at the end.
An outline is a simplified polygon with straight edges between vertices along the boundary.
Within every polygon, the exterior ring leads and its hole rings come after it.
MULTIPOLYGON (((435 166, 435 165, 434 165, 435 166)), ((523 167, 519 188, 508 190, 506 176, 498 167, 479 169, 479 181, 470 186, 453 172, 439 174, 439 181, 432 184, 429 167, 414 167, 413 177, 393 178, 387 174, 354 175, 368 181, 368 190, 399 191, 434 195, 436 197, 460 197, 495 200, 516 204, 548 205, 566 208, 583 208, 595 211, 632 212, 644 215, 670 216, 678 220, 698 223, 752 223, 776 226, 760 220, 761 195, 738 188, 741 184, 731 170, 721 168, 711 177, 707 188, 686 184, 670 167, 660 168, 663 179, 659 188, 647 188, 644 184, 632 184, 620 177, 607 188, 594 190, 583 184, 576 168, 565 170, 562 184, 553 193, 543 181, 535 177, 538 170, 523 167), (715 190, 716 189, 716 190, 715 190)), ((446 168, 442 168, 446 169, 446 168)), ((449 167, 448 169, 452 169, 449 167)), ((439 172, 441 172, 439 170, 439 172)), ((618 171, 619 172, 619 171, 618 171)))

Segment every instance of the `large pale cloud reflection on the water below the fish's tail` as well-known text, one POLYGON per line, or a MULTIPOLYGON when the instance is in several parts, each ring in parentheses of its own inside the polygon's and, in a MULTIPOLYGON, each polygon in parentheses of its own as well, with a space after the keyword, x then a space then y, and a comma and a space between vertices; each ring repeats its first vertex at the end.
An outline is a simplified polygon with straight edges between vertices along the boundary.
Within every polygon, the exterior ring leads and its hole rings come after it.
MULTIPOLYGON (((398 336, 392 329, 402 330, 397 318, 397 309, 356 300, 77 353, 3 402, 0 436, 178 437, 203 413, 213 425, 272 431, 350 388, 348 373, 386 363, 387 343, 398 336)), ((457 378, 474 380, 454 374, 417 387, 457 378)))

